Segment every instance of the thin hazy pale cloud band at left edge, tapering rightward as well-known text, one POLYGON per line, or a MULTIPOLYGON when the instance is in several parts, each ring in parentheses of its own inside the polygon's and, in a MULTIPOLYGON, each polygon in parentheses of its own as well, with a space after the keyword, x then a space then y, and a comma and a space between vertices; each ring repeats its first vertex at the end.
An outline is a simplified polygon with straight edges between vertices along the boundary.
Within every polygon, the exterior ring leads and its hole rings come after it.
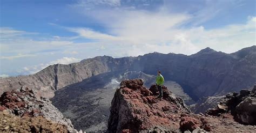
MULTIPOLYGON (((19 32, 10 28, 4 28, 4 35, 1 36, 0 48, 1 59, 14 59, 21 57, 28 57, 40 53, 40 51, 48 51, 52 49, 66 49, 71 45, 74 45, 73 41, 66 39, 59 39, 56 36, 48 38, 47 40, 33 40, 32 37, 24 37, 24 32, 19 32), (8 34, 7 34, 8 33, 8 34), (10 34, 9 34, 10 33, 10 34), (19 35, 18 35, 19 34, 19 35), (10 55, 11 56, 6 56, 10 55), (22 53, 22 54, 19 54, 22 53), (35 54, 30 54, 35 53, 35 54), (16 54, 16 55, 15 55, 16 54), (19 54, 19 55, 17 55, 19 54)), ((42 37, 41 37, 42 38, 42 37)))

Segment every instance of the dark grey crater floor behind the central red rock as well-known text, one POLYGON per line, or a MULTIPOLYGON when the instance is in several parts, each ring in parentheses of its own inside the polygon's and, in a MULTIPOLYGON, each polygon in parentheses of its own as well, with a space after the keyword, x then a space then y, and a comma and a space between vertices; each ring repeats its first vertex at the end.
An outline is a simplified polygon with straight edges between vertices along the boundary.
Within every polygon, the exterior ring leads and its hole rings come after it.
MULTIPOLYGON (((142 78, 144 85, 148 88, 156 82, 156 76, 147 75, 141 71, 129 71, 122 75, 107 72, 56 91, 51 101, 64 116, 70 118, 76 129, 105 132, 110 115, 109 108, 116 88, 120 87, 122 80, 133 78, 142 78)), ((165 81, 165 86, 178 91, 178 88, 174 88, 177 83, 165 81)))

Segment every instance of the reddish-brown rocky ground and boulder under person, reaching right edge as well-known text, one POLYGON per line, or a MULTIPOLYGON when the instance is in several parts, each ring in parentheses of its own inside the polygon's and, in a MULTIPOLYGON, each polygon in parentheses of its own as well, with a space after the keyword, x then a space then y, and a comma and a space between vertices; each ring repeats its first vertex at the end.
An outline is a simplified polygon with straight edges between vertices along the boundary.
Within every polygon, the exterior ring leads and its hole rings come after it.
MULTIPOLYGON (((142 79, 123 80, 111 103, 107 132, 254 132, 255 125, 235 121, 230 112, 223 115, 193 114, 163 86, 163 99, 157 99, 155 85, 143 86, 142 79)), ((248 96, 249 97, 249 96, 248 96)))

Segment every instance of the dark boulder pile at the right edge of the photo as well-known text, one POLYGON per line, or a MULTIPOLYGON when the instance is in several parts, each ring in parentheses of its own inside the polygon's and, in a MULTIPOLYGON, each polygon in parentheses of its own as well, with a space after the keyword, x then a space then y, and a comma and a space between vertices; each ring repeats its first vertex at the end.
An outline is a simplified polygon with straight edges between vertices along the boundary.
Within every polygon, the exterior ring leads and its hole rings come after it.
POLYGON ((206 111, 209 115, 220 116, 231 112, 235 120, 244 124, 256 125, 256 85, 252 90, 241 90, 239 93, 229 93, 216 108, 206 111))

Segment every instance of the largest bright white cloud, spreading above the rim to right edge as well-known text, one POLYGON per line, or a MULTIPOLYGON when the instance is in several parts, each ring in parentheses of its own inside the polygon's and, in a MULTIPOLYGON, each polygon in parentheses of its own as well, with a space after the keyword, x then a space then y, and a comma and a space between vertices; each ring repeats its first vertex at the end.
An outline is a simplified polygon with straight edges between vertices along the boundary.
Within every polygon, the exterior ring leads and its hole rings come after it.
MULTIPOLYGON (((249 17, 245 24, 206 29, 200 25, 183 27, 183 24, 194 20, 194 16, 187 13, 171 14, 165 9, 158 12, 104 9, 93 10, 85 15, 103 24, 108 29, 107 33, 86 27, 69 27, 69 31, 78 33, 83 38, 96 40, 95 45, 104 45, 104 50, 112 56, 138 56, 152 51, 190 55, 206 47, 232 53, 255 45, 255 17, 249 17), (114 47, 116 51, 110 47, 114 47)), ((210 18, 198 20, 196 25, 208 19, 210 18)))

